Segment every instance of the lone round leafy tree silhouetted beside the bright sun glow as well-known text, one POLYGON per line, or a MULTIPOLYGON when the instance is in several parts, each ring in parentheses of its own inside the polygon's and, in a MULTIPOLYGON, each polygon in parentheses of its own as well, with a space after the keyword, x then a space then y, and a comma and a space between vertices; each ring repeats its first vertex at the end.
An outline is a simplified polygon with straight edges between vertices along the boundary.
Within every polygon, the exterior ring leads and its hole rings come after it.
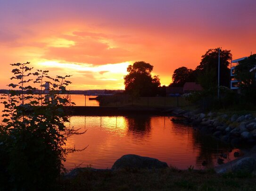
POLYGON ((144 61, 136 61, 127 68, 124 76, 125 92, 133 96, 155 96, 160 86, 158 76, 151 76, 153 66, 144 61))

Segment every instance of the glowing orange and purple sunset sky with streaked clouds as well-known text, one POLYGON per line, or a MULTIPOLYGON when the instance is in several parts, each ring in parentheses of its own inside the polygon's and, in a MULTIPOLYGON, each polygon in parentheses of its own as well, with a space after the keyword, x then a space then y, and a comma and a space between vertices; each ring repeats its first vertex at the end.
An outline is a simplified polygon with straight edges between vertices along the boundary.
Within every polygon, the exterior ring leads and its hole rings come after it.
POLYGON ((208 49, 256 53, 256 0, 0 0, 0 89, 11 63, 72 75, 71 90, 124 89, 129 64, 162 85, 208 49))

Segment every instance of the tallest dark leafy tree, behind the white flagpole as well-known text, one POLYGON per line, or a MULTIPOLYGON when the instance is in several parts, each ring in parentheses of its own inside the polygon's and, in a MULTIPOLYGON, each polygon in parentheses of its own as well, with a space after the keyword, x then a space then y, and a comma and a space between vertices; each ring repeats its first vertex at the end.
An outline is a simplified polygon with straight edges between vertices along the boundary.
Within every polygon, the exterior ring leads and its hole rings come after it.
POLYGON ((214 88, 218 85, 218 59, 220 49, 220 85, 229 87, 230 69, 229 60, 232 54, 230 50, 222 50, 221 48, 209 49, 204 55, 200 64, 196 68, 198 82, 204 89, 214 88), (209 81, 211 83, 205 83, 209 81))

